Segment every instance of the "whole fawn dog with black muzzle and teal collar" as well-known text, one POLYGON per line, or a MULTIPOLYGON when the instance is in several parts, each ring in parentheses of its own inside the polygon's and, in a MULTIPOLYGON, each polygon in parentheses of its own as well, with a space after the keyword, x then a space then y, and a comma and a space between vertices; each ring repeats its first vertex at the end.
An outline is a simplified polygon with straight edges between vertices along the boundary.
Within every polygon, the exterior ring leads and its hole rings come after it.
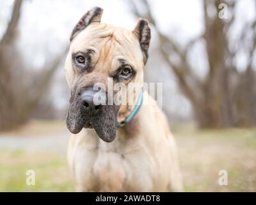
POLYGON ((148 21, 139 19, 128 31, 101 23, 102 13, 96 7, 81 17, 65 61, 71 90, 67 127, 73 133, 67 160, 76 190, 180 192, 175 139, 164 113, 142 90, 151 38, 148 21), (121 92, 121 96, 133 94, 138 103, 94 103, 94 85, 100 82, 107 90, 108 78, 113 79, 112 85, 121 83, 128 90, 130 83, 136 83, 139 92, 121 92))

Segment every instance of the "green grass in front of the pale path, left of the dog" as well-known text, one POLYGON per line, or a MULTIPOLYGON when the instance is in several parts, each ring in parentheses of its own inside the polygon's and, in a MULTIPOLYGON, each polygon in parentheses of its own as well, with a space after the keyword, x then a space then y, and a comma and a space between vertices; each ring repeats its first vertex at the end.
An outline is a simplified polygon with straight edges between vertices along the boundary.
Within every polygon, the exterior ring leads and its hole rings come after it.
POLYGON ((73 192, 65 154, 0 150, 0 192, 73 192), (26 184, 26 171, 35 171, 35 185, 26 184))

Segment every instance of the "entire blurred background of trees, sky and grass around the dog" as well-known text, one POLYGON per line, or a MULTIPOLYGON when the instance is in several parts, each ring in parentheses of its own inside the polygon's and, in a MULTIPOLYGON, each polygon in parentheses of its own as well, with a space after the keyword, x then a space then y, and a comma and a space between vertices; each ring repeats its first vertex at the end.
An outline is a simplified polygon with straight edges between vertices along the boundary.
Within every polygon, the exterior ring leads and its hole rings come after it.
POLYGON ((73 27, 94 6, 101 22, 151 24, 145 81, 163 83, 185 191, 255 192, 254 0, 0 0, 0 191, 74 191, 64 61, 73 27))

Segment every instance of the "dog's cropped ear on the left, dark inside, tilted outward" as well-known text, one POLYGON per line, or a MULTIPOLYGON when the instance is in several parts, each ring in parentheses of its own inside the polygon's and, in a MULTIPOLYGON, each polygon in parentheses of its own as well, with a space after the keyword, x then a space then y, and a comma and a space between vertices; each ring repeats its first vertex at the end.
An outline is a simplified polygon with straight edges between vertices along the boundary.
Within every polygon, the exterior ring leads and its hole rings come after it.
POLYGON ((81 19, 78 21, 76 26, 74 26, 74 29, 72 31, 70 41, 73 40, 78 33, 80 33, 83 29, 87 28, 89 24, 92 22, 101 22, 101 15, 103 13, 103 9, 99 7, 94 7, 92 10, 89 10, 85 15, 81 17, 81 19))

